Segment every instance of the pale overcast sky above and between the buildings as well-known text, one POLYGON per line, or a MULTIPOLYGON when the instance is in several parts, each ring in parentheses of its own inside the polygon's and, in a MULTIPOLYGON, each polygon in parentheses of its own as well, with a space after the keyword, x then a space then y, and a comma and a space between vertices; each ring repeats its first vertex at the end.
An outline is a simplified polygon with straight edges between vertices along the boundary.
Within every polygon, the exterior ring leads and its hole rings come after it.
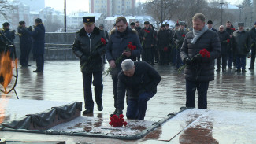
MULTIPOLYGON (((140 2, 146 2, 148 0, 140 0, 140 2)), ((224 2, 229 2, 232 5, 238 5, 243 0, 225 0, 224 2)), ((46 6, 50 6, 56 10, 63 11, 64 8, 64 0, 45 0, 46 6)), ((67 13, 71 13, 72 11, 89 11, 89 0, 66 0, 67 2, 67 13)), ((136 0, 139 2, 139 0, 136 0)))

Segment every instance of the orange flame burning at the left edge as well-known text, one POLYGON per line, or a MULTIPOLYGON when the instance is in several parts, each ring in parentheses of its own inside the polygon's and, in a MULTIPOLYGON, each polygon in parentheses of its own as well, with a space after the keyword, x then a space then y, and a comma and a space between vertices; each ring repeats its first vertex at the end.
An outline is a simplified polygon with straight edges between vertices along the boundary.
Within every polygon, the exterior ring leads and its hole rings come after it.
POLYGON ((15 67, 17 68, 17 59, 15 61, 12 61, 12 59, 9 57, 9 54, 9 51, 7 51, 6 53, 2 53, 0 61, 0 84, 2 84, 6 93, 6 87, 9 85, 13 77, 13 65, 15 65, 15 67))

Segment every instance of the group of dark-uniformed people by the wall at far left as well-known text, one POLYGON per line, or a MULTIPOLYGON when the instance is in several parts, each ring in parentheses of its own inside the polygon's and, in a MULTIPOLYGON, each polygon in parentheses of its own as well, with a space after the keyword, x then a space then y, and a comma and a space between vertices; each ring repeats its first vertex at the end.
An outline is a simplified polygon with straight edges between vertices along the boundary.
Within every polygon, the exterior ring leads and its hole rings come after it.
POLYGON ((35 19, 35 26, 26 27, 25 21, 20 21, 17 28, 17 33, 15 30, 9 30, 10 24, 5 22, 2 24, 1 32, 1 46, 0 52, 8 52, 10 58, 14 58, 14 39, 15 35, 20 37, 20 65, 21 67, 31 66, 28 64, 29 54, 32 51, 33 58, 36 61, 36 69, 33 72, 43 72, 44 65, 44 39, 45 39, 45 28, 42 23, 42 19, 35 19))

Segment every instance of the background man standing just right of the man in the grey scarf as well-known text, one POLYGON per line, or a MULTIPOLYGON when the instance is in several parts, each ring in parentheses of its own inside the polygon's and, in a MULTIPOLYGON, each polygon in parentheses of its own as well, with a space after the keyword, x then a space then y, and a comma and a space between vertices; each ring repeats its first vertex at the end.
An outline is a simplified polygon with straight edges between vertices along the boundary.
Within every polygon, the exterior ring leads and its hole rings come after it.
POLYGON ((222 59, 222 72, 226 71, 227 58, 228 58, 228 45, 230 44, 230 38, 227 31, 224 31, 224 26, 221 25, 219 31, 217 31, 221 42, 221 56, 217 57, 217 72, 221 71, 221 59, 222 59))

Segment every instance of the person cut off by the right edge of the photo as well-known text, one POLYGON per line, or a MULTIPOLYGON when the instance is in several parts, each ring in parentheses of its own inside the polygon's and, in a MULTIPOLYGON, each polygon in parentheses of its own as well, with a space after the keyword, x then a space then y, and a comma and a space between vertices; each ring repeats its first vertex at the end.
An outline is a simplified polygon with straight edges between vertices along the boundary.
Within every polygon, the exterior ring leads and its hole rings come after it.
POLYGON ((255 62, 255 51, 256 51, 256 21, 254 23, 254 27, 250 30, 250 38, 251 38, 251 60, 250 60, 250 68, 254 69, 255 62))

